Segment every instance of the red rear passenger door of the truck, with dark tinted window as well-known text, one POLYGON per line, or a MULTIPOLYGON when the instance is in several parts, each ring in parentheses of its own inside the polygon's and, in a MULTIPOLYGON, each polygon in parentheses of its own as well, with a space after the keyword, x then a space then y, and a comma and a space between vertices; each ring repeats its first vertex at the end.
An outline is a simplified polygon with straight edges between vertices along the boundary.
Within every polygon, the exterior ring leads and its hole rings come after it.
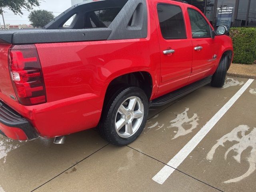
POLYGON ((192 40, 188 38, 184 6, 170 0, 152 0, 161 54, 158 96, 188 83, 192 66, 192 40))

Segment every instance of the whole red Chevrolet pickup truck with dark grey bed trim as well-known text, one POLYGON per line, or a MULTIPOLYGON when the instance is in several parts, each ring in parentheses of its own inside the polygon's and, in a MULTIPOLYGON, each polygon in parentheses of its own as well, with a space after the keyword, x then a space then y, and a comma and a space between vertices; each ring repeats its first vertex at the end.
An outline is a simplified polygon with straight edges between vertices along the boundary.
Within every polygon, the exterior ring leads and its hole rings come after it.
POLYGON ((63 138, 98 127, 133 142, 148 108, 224 85, 225 26, 174 0, 87 0, 40 30, 0 32, 0 133, 63 138))

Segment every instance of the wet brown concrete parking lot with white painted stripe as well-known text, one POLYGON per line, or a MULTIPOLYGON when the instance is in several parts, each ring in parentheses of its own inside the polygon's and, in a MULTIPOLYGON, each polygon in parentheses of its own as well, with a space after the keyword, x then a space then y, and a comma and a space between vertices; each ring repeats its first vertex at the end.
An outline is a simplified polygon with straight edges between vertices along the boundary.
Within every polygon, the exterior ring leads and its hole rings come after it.
POLYGON ((142 135, 124 147, 94 129, 64 145, 0 136, 0 192, 255 192, 255 101, 256 80, 228 77, 222 89, 150 108, 142 135))

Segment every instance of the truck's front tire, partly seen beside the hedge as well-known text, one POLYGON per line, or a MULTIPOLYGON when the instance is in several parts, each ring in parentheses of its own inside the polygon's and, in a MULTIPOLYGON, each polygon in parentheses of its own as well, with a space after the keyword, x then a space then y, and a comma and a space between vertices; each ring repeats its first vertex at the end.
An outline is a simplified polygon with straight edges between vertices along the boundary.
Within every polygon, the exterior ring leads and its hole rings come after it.
POLYGON ((228 56, 224 55, 221 60, 220 64, 212 76, 212 82, 211 86, 212 87, 223 87, 225 80, 226 80, 226 75, 227 75, 227 70, 228 70, 228 56))

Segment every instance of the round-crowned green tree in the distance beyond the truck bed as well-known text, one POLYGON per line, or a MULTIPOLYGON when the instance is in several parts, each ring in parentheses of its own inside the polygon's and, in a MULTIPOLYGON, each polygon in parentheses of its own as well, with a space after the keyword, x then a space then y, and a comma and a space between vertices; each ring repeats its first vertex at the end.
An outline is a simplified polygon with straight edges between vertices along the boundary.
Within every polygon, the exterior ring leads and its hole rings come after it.
POLYGON ((32 26, 42 28, 54 19, 52 12, 47 10, 34 10, 28 16, 32 26))

